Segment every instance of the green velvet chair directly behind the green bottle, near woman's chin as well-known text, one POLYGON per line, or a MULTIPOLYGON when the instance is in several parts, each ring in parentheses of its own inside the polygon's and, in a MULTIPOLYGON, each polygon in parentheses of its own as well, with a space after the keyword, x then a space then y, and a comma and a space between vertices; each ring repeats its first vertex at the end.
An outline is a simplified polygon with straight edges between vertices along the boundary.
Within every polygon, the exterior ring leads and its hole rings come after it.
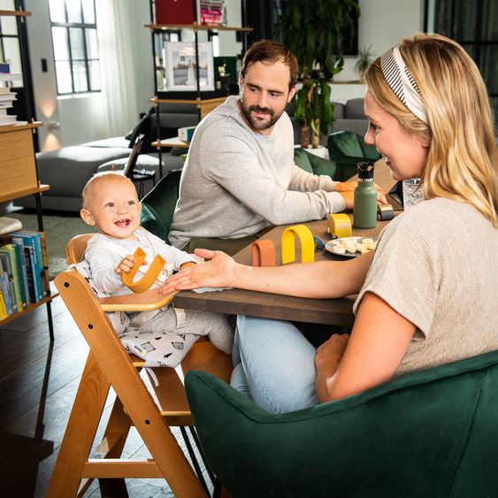
POLYGON ((356 165, 362 161, 377 161, 379 151, 367 145, 360 134, 341 131, 329 134, 327 138, 328 155, 337 163, 337 179, 345 181, 356 174, 356 165))

